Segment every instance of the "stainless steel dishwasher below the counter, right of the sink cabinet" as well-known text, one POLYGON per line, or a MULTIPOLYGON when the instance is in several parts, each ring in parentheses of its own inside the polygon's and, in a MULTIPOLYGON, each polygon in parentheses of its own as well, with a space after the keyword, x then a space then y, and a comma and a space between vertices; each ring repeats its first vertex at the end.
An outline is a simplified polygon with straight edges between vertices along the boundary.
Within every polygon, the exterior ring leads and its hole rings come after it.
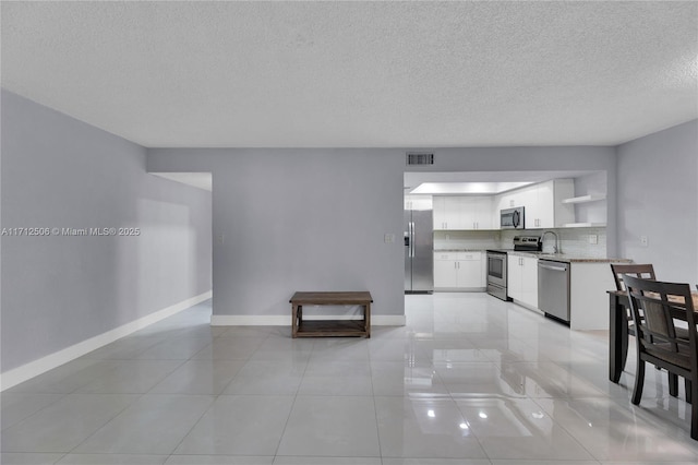
POLYGON ((538 261, 538 308, 569 325, 569 263, 538 261))

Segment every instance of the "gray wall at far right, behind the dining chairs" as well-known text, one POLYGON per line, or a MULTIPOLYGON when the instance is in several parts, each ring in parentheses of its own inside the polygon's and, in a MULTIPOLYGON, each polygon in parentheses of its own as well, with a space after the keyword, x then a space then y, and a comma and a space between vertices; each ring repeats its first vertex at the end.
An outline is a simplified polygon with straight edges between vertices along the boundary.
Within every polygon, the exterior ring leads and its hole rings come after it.
POLYGON ((698 283, 698 120, 617 147, 618 248, 658 277, 698 283), (640 236, 648 237, 642 247, 640 236))

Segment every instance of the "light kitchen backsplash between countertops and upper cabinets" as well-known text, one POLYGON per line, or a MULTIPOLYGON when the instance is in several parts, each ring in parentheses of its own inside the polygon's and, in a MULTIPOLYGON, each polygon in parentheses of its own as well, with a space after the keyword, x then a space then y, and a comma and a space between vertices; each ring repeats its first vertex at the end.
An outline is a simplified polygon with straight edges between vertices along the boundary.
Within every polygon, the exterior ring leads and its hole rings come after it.
MULTIPOLYGON (((557 234, 562 253, 591 259, 606 258, 606 228, 558 228, 550 229, 557 234), (597 243, 590 242, 595 236, 597 243)), ((434 249, 512 249, 514 236, 540 236, 542 229, 527 230, 437 230, 434 231, 434 249)), ((552 251, 553 236, 546 235, 543 250, 552 251)))

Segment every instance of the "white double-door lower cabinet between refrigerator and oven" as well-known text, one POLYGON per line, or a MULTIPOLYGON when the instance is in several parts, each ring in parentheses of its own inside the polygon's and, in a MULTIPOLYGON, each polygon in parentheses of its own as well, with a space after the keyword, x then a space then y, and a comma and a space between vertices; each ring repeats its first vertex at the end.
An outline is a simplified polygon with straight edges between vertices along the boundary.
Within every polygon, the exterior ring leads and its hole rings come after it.
POLYGON ((483 270, 482 252, 434 252, 434 288, 482 289, 483 270))

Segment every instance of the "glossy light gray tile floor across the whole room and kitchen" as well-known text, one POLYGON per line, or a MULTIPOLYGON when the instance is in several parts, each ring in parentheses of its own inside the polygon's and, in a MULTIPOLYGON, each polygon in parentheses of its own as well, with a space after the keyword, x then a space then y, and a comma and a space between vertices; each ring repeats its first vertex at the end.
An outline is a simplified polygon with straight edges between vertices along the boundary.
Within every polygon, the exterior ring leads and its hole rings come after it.
MULTIPOLYGON (((634 347, 485 294, 406 297, 365 338, 210 327, 188 309, 1 394, 2 464, 698 463, 690 406, 634 347)), ((290 317, 289 317, 290 318, 290 317)))

